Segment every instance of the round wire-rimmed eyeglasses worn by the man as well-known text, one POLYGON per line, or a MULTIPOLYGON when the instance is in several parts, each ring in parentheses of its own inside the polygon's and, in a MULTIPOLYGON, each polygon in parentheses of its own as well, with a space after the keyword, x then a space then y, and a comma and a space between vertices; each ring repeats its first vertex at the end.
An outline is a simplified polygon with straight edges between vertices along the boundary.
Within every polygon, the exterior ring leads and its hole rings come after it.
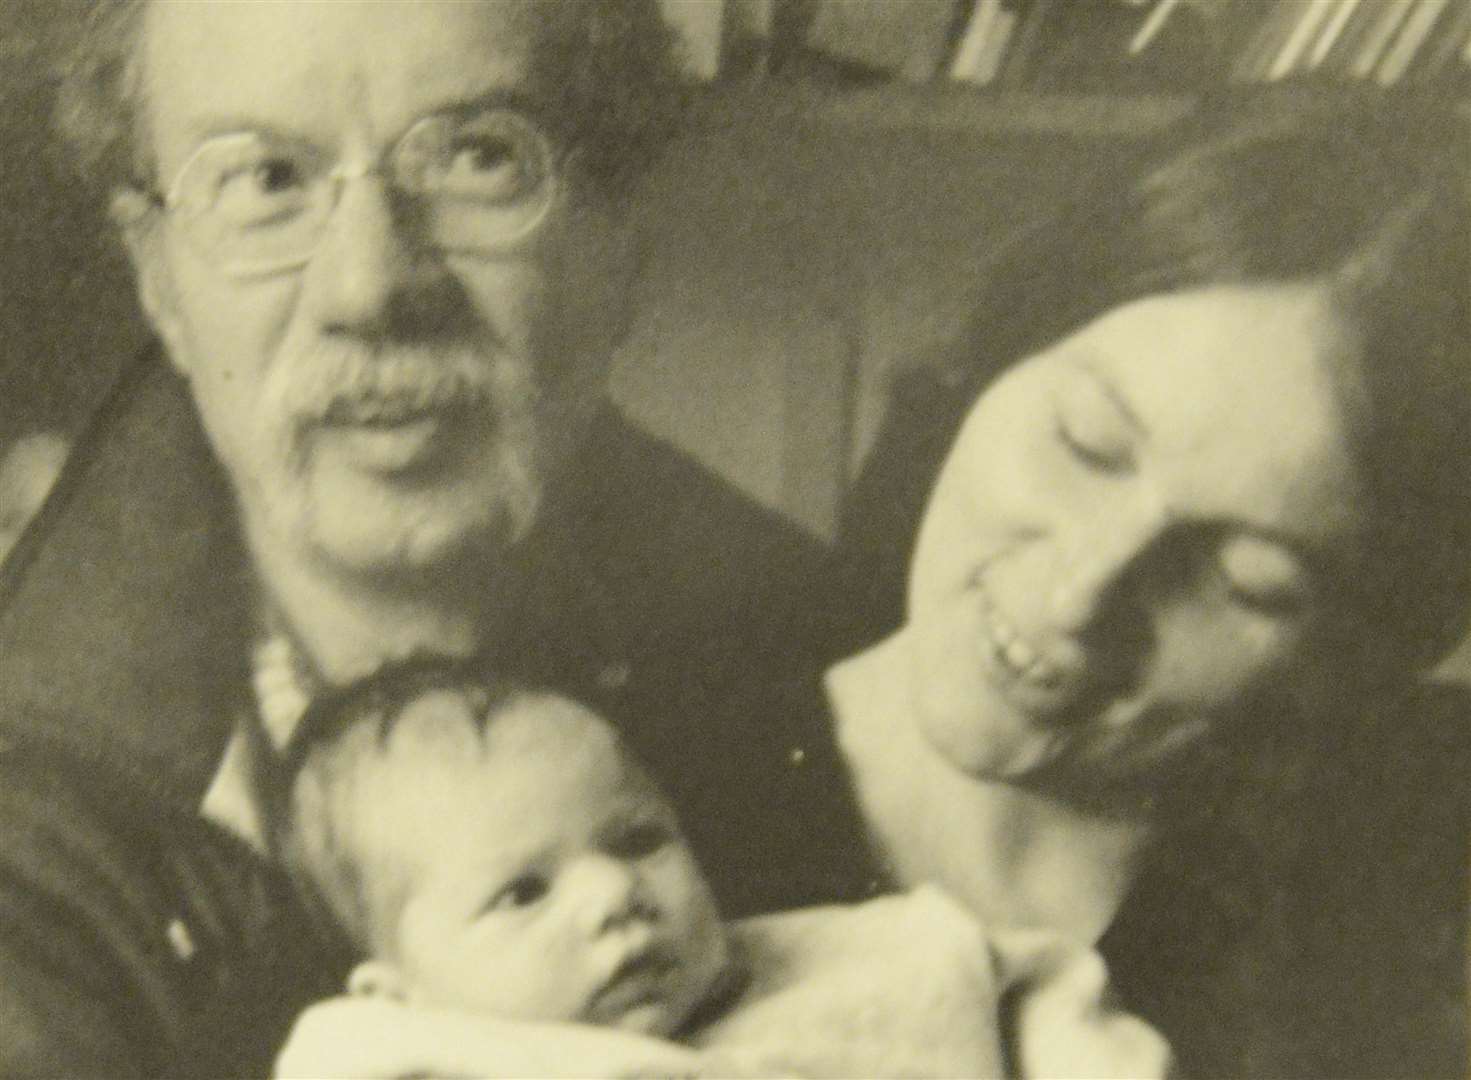
POLYGON ((331 162, 319 147, 254 131, 206 140, 154 202, 231 277, 310 262, 343 184, 380 174, 428 243, 496 255, 535 231, 558 188, 552 143, 507 109, 437 113, 410 127, 377 165, 331 162))

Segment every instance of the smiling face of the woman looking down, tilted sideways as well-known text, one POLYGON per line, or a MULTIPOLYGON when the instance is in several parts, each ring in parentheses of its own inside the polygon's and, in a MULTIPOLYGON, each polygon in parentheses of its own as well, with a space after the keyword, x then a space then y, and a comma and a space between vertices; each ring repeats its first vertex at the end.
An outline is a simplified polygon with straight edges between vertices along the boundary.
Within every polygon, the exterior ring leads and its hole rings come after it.
POLYGON ((1116 308, 991 384, 909 587, 928 740, 974 775, 1130 781, 1308 677, 1362 499, 1324 290, 1116 308))

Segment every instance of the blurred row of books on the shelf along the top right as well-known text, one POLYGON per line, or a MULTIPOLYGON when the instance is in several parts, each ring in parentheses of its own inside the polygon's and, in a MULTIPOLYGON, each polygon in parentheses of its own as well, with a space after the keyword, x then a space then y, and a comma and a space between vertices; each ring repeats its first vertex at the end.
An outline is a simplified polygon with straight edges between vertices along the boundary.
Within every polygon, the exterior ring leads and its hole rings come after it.
POLYGON ((662 0, 721 84, 1177 96, 1314 78, 1471 94, 1471 0, 662 0))

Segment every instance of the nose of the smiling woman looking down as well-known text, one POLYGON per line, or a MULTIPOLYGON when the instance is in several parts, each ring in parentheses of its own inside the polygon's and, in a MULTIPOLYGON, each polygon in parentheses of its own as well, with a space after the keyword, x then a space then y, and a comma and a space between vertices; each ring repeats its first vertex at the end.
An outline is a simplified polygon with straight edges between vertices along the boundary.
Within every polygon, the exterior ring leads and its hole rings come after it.
POLYGON ((1158 544, 1167 515, 1147 503, 1118 505, 1066 536, 1047 583, 1047 615, 1064 633, 1094 625, 1158 544))

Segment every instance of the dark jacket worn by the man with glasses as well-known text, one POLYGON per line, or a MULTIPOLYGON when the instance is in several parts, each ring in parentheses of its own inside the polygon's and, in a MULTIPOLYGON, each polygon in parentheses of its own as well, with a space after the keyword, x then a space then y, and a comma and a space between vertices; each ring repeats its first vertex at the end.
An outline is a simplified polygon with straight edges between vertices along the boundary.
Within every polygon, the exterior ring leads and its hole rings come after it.
MULTIPOLYGON (((816 549, 610 411, 547 505, 488 664, 619 724, 728 915, 861 895, 816 549)), ((340 986, 274 868, 199 815, 252 705, 253 603, 225 478, 150 353, 0 574, 0 1074, 259 1074, 340 986)))

